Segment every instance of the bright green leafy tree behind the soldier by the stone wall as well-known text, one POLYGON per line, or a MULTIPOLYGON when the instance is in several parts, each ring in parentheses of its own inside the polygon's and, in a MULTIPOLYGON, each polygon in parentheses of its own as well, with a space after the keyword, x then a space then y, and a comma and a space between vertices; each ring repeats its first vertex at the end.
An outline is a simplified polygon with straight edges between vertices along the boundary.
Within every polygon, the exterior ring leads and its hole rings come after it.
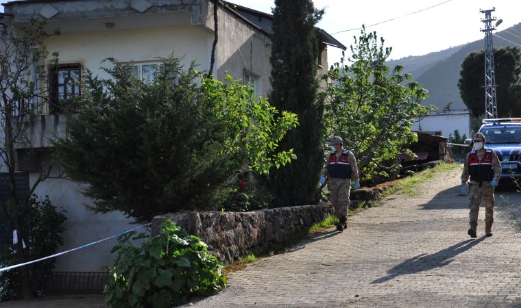
POLYGON ((407 151, 402 149, 404 145, 417 141, 411 131, 413 121, 431 109, 420 105, 427 91, 409 81, 411 75, 402 73, 403 66, 391 71, 385 65, 391 48, 383 44, 376 32, 366 33, 364 28, 354 38, 347 62, 342 57, 324 76, 325 136, 345 140, 364 179, 385 177, 399 167, 389 168, 383 162, 393 161, 398 153, 407 151))

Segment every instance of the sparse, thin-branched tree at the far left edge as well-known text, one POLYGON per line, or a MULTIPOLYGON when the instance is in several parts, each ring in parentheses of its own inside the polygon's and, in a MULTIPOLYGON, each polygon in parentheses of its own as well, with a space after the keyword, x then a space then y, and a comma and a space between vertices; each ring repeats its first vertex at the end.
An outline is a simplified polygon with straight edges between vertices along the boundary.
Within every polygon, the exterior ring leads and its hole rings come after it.
MULTIPOLYGON (((7 169, 10 182, 8 198, 0 201, 0 217, 11 233, 17 230, 16 262, 24 263, 28 253, 22 246, 22 238, 27 238, 29 229, 27 211, 31 196, 38 185, 53 174, 53 161, 32 161, 38 165, 40 173, 22 196, 17 194, 25 189, 17 187, 16 183, 19 164, 16 149, 25 149, 28 157, 43 156, 37 155, 41 149, 35 146, 37 140, 30 133, 30 128, 41 112, 40 107, 49 103, 47 68, 44 64, 49 52, 43 40, 58 32, 47 33, 45 23, 34 19, 16 29, 0 26, 0 167, 7 169)), ((57 61, 57 56, 53 54, 51 63, 57 61)), ((29 268, 24 266, 18 272, 21 295, 32 298, 35 294, 29 268)))

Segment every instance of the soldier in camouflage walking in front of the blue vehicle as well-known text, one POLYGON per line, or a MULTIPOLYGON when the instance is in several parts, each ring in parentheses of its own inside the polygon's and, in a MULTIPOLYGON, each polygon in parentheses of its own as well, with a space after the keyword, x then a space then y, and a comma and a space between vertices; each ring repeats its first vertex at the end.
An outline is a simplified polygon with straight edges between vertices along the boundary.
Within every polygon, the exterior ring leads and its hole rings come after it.
POLYGON ((467 181, 470 176, 470 229, 468 235, 476 238, 478 227, 478 213, 481 199, 485 203, 485 235, 492 236, 492 222, 494 222, 494 187, 499 183, 501 163, 492 149, 485 148, 485 136, 476 133, 474 149, 467 154, 463 175, 461 175, 461 193, 467 193, 467 181))

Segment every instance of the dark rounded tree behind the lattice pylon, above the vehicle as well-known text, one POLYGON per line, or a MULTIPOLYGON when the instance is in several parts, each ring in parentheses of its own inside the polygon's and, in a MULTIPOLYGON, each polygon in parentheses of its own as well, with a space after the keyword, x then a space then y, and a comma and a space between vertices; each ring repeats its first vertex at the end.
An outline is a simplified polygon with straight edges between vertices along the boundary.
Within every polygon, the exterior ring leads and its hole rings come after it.
MULTIPOLYGON (((459 94, 472 116, 485 114, 485 51, 470 53, 463 63, 459 94)), ((521 53, 517 47, 494 49, 498 116, 521 115, 521 53)))

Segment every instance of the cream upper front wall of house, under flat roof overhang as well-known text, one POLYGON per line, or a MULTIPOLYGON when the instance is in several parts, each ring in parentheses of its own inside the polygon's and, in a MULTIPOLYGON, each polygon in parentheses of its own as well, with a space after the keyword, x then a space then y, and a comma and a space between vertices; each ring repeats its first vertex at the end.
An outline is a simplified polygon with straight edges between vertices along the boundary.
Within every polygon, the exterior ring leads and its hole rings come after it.
POLYGON ((157 62, 172 51, 183 57, 182 64, 199 64, 198 70, 209 67, 208 40, 213 36, 199 27, 189 25, 125 29, 75 34, 62 34, 45 40, 47 50, 60 53, 60 64, 80 63, 93 75, 108 77, 100 69, 107 57, 119 62, 157 62))

